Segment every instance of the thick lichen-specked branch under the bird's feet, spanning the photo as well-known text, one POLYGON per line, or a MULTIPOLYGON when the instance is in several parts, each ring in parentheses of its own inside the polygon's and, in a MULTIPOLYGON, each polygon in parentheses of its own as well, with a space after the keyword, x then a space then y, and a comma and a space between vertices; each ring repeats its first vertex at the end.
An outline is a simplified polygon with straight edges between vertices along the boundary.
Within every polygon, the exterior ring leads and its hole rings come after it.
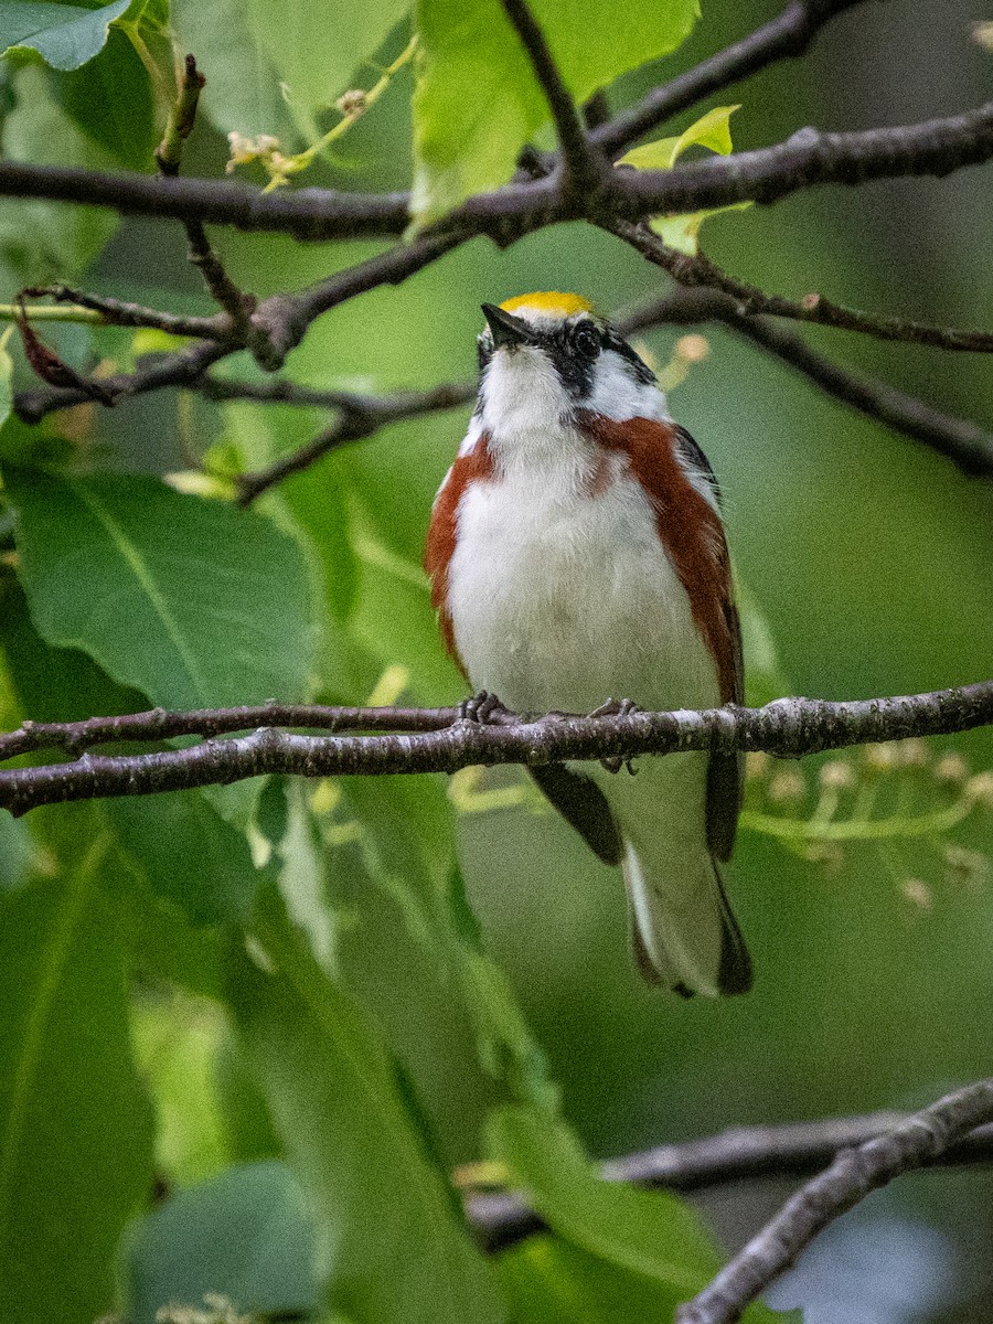
MULTIPOLYGON (((327 711, 331 715, 335 710, 327 711)), ((947 735, 989 724, 993 724, 993 681, 850 703, 777 699, 764 708, 604 718, 552 714, 514 720, 502 714, 496 723, 461 719, 442 730, 413 735, 307 736, 265 726, 252 735, 209 739, 185 749, 110 757, 83 753, 71 763, 4 769, 0 808, 23 814, 38 805, 69 800, 148 796, 224 785, 265 773, 303 777, 450 773, 475 764, 542 767, 568 759, 626 760, 690 749, 764 749, 798 759, 869 740, 947 735)))

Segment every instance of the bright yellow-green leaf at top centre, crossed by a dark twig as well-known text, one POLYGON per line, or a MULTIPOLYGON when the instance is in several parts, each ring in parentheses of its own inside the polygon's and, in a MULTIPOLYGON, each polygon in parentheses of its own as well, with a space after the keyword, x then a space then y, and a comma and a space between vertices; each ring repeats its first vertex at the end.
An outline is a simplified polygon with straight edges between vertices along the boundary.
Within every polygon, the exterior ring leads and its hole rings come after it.
MULTIPOLYGON (((699 15, 698 0, 632 0, 609 40, 594 40, 604 25, 596 0, 531 8, 577 102, 675 50, 699 15)), ((504 184, 551 114, 499 0, 418 0, 417 23, 413 214, 425 225, 470 193, 504 184)))

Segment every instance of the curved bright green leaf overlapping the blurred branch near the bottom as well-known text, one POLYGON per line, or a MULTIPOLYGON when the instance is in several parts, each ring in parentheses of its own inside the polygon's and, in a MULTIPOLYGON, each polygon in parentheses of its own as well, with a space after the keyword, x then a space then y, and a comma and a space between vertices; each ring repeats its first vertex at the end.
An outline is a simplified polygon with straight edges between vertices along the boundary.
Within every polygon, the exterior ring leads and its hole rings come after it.
MULTIPOLYGON (((522 1188, 548 1226, 580 1251, 579 1256, 559 1255, 549 1266, 538 1250, 534 1267, 549 1282, 522 1283, 518 1264, 518 1292, 567 1295, 580 1303, 587 1298, 565 1317, 600 1320, 589 1296, 606 1292, 616 1304, 624 1294, 621 1275, 629 1279, 634 1299, 657 1295, 666 1311, 674 1311, 720 1268, 720 1255, 690 1205, 666 1192, 604 1181, 561 1123, 532 1110, 498 1108, 486 1129, 491 1156, 507 1166, 511 1184, 522 1188)), ((777 1316, 765 1305, 752 1305, 743 1319, 764 1324, 777 1316)))

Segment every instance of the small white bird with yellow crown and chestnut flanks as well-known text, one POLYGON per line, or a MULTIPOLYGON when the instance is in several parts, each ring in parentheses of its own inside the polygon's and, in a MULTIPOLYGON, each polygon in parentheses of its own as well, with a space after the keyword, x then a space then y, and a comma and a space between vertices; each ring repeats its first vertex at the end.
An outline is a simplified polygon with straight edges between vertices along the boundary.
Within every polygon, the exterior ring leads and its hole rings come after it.
MULTIPOLYGON (((580 295, 538 291, 482 312, 478 399, 424 556, 470 687, 518 714, 740 704, 718 482, 654 372, 580 295)), ((621 866, 645 980, 683 996, 744 993, 751 959, 719 871, 741 756, 620 763, 530 771, 596 855, 621 866)))

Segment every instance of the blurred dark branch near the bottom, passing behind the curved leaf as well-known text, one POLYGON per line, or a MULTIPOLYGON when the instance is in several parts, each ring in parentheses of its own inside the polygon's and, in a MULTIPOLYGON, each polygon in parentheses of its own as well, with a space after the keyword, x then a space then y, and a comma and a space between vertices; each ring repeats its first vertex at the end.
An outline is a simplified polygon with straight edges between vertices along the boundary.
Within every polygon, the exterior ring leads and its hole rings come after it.
MULTIPOLYGON (((907 1120, 904 1113, 878 1112, 862 1117, 829 1117, 771 1127, 735 1127, 716 1136, 683 1144, 658 1145, 642 1153, 610 1158, 600 1166, 605 1181, 630 1181, 665 1190, 706 1190, 737 1181, 810 1177, 826 1168, 838 1151, 863 1145, 907 1120)), ((993 1125, 978 1127, 922 1166, 988 1164, 993 1161, 993 1125)), ((544 1219, 508 1192, 470 1194, 466 1215, 487 1254, 516 1246, 543 1231, 544 1219)))

